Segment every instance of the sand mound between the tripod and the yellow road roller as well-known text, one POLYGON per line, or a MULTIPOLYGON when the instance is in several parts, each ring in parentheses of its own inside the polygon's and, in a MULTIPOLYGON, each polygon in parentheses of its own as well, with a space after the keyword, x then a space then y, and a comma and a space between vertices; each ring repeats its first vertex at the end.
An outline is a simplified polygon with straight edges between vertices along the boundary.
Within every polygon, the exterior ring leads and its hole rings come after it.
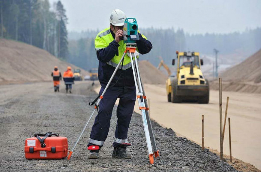
POLYGON ((146 84, 165 84, 167 76, 153 66, 149 61, 139 62, 142 82, 146 84))

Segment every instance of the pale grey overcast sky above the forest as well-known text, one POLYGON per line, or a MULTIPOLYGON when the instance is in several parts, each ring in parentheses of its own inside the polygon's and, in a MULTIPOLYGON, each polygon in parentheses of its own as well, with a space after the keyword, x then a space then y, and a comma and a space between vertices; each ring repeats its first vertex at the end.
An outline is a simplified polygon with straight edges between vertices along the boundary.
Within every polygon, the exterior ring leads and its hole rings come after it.
MULTIPOLYGON (((49 0, 51 4, 57 0, 49 0)), ((69 31, 104 29, 120 9, 140 28, 183 28, 189 33, 228 33, 261 27, 261 0, 61 0, 69 31)))

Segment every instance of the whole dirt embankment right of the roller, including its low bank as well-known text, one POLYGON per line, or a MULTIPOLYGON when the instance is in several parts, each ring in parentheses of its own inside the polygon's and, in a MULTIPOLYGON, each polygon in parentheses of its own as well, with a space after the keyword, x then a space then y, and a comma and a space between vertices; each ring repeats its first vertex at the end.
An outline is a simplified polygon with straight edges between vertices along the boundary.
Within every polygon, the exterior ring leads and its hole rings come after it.
MULTIPOLYGON (((261 49, 242 63, 221 74, 225 91, 261 93, 261 49)), ((218 81, 210 82, 211 89, 218 90, 218 81)))

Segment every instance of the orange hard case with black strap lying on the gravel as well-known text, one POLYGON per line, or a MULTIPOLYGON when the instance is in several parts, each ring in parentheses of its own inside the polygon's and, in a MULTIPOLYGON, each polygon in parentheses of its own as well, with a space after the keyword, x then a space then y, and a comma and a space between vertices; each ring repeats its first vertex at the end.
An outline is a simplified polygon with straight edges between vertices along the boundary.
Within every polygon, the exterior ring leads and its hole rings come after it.
POLYGON ((35 134, 25 140, 26 159, 63 159, 67 157, 67 153, 68 140, 59 134, 35 134))

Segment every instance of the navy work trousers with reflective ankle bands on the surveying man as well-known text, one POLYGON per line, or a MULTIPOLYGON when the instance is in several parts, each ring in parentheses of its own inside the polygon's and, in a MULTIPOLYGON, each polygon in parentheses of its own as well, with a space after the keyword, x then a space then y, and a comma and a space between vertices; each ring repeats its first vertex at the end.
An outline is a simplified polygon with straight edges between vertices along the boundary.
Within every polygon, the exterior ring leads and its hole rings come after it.
MULTIPOLYGON (((99 95, 102 94, 103 90, 104 87, 101 88, 99 95)), ((112 110, 117 98, 119 98, 117 107, 118 120, 113 146, 118 147, 123 143, 128 143, 127 134, 135 105, 136 89, 135 87, 111 87, 107 89, 103 99, 100 101, 99 113, 95 117, 88 146, 103 146, 109 132, 112 110)))

